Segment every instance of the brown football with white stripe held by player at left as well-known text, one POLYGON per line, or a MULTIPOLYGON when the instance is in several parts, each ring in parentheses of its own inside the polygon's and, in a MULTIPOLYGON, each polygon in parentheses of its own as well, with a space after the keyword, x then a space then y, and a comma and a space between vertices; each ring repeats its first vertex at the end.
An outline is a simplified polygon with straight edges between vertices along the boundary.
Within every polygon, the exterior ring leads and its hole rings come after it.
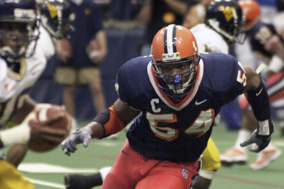
MULTIPOLYGON (((35 121, 33 124, 63 129, 69 134, 71 118, 67 112, 62 111, 62 107, 51 105, 35 110, 35 121)), ((65 138, 68 136, 68 134, 65 136, 65 138)), ((61 142, 62 141, 50 142, 39 138, 36 142, 29 142, 28 148, 37 152, 49 151, 57 147, 61 142)))

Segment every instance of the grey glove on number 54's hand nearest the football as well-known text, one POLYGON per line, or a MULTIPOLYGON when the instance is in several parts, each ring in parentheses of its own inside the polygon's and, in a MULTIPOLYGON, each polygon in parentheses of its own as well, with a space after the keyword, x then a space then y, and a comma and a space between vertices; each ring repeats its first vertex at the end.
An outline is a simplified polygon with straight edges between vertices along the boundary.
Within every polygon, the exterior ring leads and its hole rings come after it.
POLYGON ((77 150, 77 144, 83 143, 87 147, 91 141, 91 135, 92 129, 90 127, 78 128, 61 143, 64 154, 70 156, 70 152, 74 153, 77 150))

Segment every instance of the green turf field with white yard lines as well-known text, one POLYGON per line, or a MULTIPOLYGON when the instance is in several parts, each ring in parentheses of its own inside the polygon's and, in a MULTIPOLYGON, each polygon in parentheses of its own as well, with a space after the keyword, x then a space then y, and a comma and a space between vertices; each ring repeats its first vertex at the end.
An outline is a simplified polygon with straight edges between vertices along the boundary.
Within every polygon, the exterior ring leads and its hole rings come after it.
MULTIPOLYGON (((84 126, 87 122, 79 122, 84 126)), ((212 139, 220 152, 230 148, 236 139, 237 131, 226 131, 221 123, 214 126, 212 139)), ((20 164, 19 169, 34 183, 37 189, 64 188, 63 177, 67 172, 88 174, 102 167, 111 166, 123 146, 125 131, 119 138, 93 139, 87 148, 78 146, 78 150, 70 157, 64 155, 60 147, 45 153, 29 151, 20 164)), ((284 151, 284 137, 280 136, 276 125, 272 142, 284 151)), ((7 149, 4 149, 4 152, 7 149)), ((212 181, 212 189, 276 189, 284 188, 284 155, 262 170, 251 170, 249 164, 254 162, 256 154, 249 152, 246 165, 221 167, 212 181)), ((95 187, 100 189, 101 187, 95 187)))

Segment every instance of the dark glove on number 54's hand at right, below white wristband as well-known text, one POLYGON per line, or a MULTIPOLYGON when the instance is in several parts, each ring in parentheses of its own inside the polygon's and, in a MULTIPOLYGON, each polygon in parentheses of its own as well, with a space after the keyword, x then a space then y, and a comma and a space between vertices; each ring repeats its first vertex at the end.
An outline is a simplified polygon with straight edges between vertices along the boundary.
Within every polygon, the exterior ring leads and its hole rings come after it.
POLYGON ((249 147, 249 151, 253 151, 253 152, 260 152, 260 151, 262 151, 270 143, 271 135, 261 136, 260 137, 260 136, 257 136, 256 133, 257 133, 257 129, 254 130, 254 132, 252 133, 251 137, 249 137, 248 140, 244 141, 240 145, 242 147, 244 147, 244 146, 247 146, 249 144, 252 144, 249 147))

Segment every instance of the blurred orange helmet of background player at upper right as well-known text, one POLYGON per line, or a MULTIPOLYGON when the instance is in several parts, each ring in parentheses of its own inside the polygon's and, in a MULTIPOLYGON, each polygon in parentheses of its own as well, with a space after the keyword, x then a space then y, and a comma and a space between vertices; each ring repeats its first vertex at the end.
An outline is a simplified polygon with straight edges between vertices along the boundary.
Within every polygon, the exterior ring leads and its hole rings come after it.
POLYGON ((243 28, 245 30, 251 29, 251 27, 259 21, 260 18, 260 7, 259 4, 254 0, 240 0, 238 4, 241 6, 243 16, 246 19, 243 28))

